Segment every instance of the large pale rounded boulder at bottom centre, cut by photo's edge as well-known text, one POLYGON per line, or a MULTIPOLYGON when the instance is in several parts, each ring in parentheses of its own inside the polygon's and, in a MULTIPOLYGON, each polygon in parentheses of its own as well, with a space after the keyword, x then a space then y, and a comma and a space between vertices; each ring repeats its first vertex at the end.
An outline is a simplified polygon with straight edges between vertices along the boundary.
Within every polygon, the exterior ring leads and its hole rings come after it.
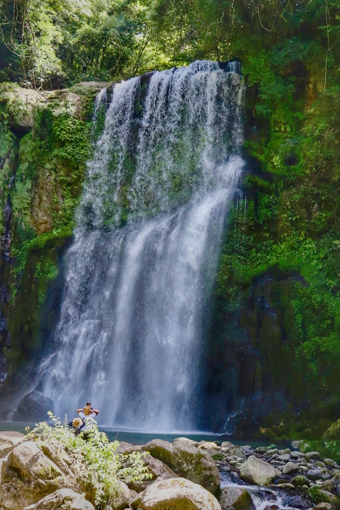
POLYGON ((185 478, 153 483, 141 498, 138 510, 221 510, 208 491, 185 478))

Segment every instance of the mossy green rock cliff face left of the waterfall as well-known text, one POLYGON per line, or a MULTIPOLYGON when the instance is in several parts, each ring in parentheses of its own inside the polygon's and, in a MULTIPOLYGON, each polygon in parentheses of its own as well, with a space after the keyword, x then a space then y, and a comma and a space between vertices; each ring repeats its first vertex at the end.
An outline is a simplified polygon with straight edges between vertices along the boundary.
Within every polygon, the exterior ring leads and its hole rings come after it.
POLYGON ((0 84, 0 392, 8 398, 33 380, 43 351, 46 296, 60 292, 60 257, 91 156, 94 97, 106 85, 39 92, 0 84))

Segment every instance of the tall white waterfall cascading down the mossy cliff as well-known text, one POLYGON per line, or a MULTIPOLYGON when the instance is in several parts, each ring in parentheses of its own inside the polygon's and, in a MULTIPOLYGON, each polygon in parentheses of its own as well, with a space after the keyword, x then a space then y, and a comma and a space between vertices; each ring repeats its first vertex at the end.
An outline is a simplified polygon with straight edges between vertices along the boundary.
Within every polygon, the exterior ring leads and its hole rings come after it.
POLYGON ((243 167, 242 95, 240 75, 210 61, 105 94, 44 382, 58 415, 91 401, 119 429, 201 426, 210 297, 243 167))

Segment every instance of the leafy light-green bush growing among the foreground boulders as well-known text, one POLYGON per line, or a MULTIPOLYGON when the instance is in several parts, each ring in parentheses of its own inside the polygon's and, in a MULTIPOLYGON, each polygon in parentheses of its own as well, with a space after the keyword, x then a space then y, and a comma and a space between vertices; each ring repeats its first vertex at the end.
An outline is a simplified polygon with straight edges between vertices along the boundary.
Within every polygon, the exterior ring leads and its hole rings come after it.
POLYGON ((106 434, 99 432, 95 422, 89 438, 84 440, 82 432, 75 436, 67 426, 67 417, 61 423, 53 413, 49 412, 48 415, 53 426, 40 422, 28 433, 27 438, 53 446, 60 444, 70 454, 84 459, 86 468, 82 469, 81 477, 85 486, 95 489, 96 508, 111 504, 114 506, 118 480, 129 482, 150 479, 148 468, 143 463, 145 453, 116 454, 118 441, 110 443, 106 434))

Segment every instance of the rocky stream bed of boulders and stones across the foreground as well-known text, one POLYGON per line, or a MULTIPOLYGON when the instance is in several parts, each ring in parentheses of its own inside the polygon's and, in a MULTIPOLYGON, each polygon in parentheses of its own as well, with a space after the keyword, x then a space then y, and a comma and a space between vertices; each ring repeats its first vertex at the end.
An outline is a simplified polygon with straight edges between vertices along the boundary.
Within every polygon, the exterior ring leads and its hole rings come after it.
MULTIPOLYGON (((115 504, 104 510, 337 510, 340 466, 299 443, 278 450, 187 438, 121 442, 116 454, 145 452, 151 479, 117 481, 115 504)), ((86 463, 61 444, 0 432, 0 457, 0 508, 94 510, 93 487, 80 476, 86 463)))

